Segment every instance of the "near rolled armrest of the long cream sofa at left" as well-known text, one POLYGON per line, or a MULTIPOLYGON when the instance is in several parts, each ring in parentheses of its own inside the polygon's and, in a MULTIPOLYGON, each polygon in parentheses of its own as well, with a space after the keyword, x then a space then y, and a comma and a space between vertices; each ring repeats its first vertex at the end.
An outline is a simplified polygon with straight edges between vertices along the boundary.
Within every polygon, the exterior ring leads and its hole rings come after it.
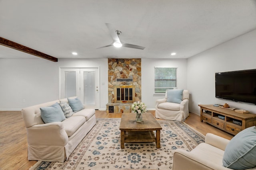
POLYGON ((38 124, 26 128, 29 145, 65 146, 68 135, 62 122, 38 124))

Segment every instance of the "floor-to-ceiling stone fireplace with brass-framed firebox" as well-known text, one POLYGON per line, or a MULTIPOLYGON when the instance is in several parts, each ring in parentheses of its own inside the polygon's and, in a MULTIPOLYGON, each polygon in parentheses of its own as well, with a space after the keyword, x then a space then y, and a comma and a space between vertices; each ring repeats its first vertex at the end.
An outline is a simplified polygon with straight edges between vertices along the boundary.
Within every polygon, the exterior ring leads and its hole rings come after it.
POLYGON ((107 113, 129 113, 141 101, 141 59, 108 59, 107 113))

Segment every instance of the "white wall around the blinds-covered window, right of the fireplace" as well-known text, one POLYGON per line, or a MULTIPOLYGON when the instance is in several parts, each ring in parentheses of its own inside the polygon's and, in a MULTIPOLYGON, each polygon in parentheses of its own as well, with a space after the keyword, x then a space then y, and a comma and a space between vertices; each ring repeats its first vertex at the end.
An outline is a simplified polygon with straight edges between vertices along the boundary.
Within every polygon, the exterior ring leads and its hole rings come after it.
POLYGON ((156 100, 164 98, 164 94, 154 94, 154 67, 177 67, 177 88, 187 89, 186 59, 141 59, 142 102, 148 110, 155 109, 156 100))

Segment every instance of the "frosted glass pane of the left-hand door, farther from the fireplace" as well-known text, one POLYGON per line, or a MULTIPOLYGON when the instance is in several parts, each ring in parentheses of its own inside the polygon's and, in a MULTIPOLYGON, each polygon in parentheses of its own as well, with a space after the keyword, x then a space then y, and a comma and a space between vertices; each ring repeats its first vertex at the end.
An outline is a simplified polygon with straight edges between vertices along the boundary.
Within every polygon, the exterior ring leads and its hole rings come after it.
POLYGON ((65 72, 65 98, 76 96, 76 72, 65 72))

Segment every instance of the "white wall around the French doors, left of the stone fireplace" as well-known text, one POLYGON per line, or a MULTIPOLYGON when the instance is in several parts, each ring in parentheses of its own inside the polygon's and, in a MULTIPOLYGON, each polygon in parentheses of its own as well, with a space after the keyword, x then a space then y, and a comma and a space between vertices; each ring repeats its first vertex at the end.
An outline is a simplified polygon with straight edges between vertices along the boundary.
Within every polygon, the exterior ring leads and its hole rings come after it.
POLYGON ((69 66, 100 67, 100 109, 106 109, 107 59, 59 59, 58 62, 52 62, 38 57, 38 59, 0 59, 0 110, 20 110, 57 100, 58 68, 69 66))

